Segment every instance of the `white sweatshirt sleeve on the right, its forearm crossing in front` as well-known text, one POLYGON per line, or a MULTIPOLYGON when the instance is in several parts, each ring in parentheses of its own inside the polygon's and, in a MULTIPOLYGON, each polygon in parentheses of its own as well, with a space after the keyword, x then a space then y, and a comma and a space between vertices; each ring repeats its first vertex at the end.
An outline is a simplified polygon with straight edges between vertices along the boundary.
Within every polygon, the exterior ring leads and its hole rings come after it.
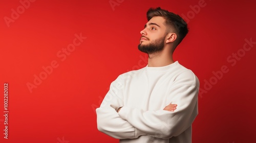
POLYGON ((185 72, 176 78, 163 99, 168 104, 178 105, 174 112, 163 109, 143 111, 126 106, 119 115, 148 135, 163 139, 178 136, 192 125, 198 114, 198 89, 198 78, 191 71, 185 72))

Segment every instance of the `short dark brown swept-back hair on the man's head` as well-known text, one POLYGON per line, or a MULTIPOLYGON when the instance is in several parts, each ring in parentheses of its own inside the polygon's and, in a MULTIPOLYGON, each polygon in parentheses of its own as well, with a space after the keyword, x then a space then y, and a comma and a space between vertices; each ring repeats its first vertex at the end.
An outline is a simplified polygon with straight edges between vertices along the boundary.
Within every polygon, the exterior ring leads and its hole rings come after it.
POLYGON ((187 35, 187 23, 178 14, 163 10, 160 7, 150 8, 146 13, 147 20, 149 21, 154 16, 161 16, 165 19, 165 25, 167 26, 167 31, 174 31, 177 34, 176 46, 183 40, 187 35))

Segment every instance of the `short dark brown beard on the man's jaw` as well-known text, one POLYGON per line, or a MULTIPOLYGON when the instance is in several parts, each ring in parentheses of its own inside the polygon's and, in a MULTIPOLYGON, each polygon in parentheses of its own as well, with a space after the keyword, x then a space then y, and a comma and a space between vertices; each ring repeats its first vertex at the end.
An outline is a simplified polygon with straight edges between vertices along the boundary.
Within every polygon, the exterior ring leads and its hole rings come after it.
POLYGON ((147 53, 147 54, 157 54, 160 53, 161 51, 163 51, 163 47, 164 47, 164 41, 165 38, 159 38, 155 41, 152 41, 151 43, 148 44, 139 44, 138 45, 138 49, 141 52, 147 53))

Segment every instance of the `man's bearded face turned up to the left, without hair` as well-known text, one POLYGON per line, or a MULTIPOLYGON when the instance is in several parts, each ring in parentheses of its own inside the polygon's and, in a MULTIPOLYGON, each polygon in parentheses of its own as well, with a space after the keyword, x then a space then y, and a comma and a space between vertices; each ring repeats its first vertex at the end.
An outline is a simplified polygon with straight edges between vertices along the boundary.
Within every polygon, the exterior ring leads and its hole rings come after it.
POLYGON ((145 25, 140 38, 138 49, 147 54, 161 52, 165 43, 166 27, 165 19, 160 16, 152 17, 145 25))

